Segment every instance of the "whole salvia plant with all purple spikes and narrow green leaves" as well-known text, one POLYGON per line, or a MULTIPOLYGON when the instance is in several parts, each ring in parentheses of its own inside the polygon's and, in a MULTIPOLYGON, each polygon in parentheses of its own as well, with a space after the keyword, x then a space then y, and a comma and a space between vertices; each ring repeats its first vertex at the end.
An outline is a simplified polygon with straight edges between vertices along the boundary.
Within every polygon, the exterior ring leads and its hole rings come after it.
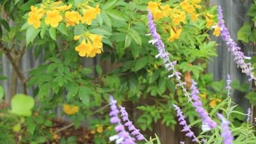
MULTIPOLYGON (((242 69, 246 75, 255 80, 253 76, 252 68, 250 67, 250 63, 245 63, 244 60, 248 59, 248 57, 244 56, 243 52, 239 51, 240 48, 237 47, 237 44, 232 40, 230 34, 225 27, 223 15, 221 13, 221 7, 218 8, 218 26, 221 28, 221 38, 227 42, 229 50, 232 52, 234 56, 234 60, 237 65, 242 69)), ((255 138, 255 130, 253 129, 252 124, 250 124, 251 110, 248 109, 248 113, 244 114, 239 111, 234 110, 236 108, 236 104, 232 102, 230 93, 231 93, 231 78, 227 76, 227 99, 223 100, 218 104, 215 108, 212 109, 210 113, 203 108, 202 102, 200 100, 199 90, 196 86, 195 81, 191 81, 191 92, 186 89, 185 83, 182 81, 182 74, 175 70, 175 64, 177 61, 170 61, 170 54, 166 51, 164 47, 164 43, 161 40, 161 36, 157 33, 156 24, 154 22, 152 13, 148 11, 148 28, 150 29, 150 34, 153 37, 153 40, 150 40, 150 43, 156 45, 157 51, 159 54, 156 55, 156 58, 161 58, 164 62, 164 67, 170 75, 168 77, 175 77, 177 81, 177 87, 180 87, 184 92, 184 95, 188 98, 188 102, 192 104, 195 108, 195 111, 198 113, 200 119, 196 120, 193 124, 188 124, 186 122, 185 116, 182 114, 182 109, 177 106, 178 104, 173 104, 173 108, 177 111, 177 117, 179 121, 179 125, 183 127, 182 132, 191 138, 191 141, 195 143, 206 143, 206 144, 215 144, 215 143, 223 143, 223 144, 247 144, 247 143, 256 143, 255 138), (236 115, 244 115, 247 116, 246 124, 240 125, 239 127, 235 127, 232 122, 229 122, 230 116, 232 114, 236 115), (202 123, 202 132, 196 136, 196 134, 191 131, 191 127, 195 124, 202 123)), ((143 134, 141 134, 140 130, 137 129, 134 124, 129 120, 128 114, 125 111, 125 108, 116 106, 116 100, 111 96, 110 97, 110 106, 111 112, 109 115, 111 116, 110 122, 112 124, 116 124, 115 131, 116 134, 109 138, 110 141, 115 141, 115 143, 124 143, 124 144, 133 144, 136 141, 145 141, 148 144, 157 143, 159 144, 159 138, 150 138, 147 140, 143 134), (122 120, 121 120, 122 119, 122 120)), ((184 141, 180 141, 180 144, 184 144, 184 141)))

